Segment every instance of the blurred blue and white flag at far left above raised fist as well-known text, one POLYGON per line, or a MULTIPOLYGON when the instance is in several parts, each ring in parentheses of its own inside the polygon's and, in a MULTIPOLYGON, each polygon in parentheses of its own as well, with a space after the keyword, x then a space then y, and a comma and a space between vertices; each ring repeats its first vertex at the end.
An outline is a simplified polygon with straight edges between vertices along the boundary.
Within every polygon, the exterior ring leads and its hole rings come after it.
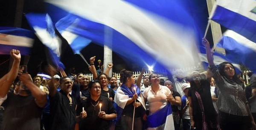
POLYGON ((0 54, 9 55, 12 49, 20 50, 21 55, 29 55, 35 34, 26 29, 0 27, 0 54))

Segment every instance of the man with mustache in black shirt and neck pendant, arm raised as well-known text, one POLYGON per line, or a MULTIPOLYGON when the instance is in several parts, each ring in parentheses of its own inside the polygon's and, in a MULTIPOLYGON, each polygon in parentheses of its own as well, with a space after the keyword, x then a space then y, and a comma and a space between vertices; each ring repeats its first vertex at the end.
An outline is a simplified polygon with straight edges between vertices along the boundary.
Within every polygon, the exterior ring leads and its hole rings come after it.
POLYGON ((60 79, 61 90, 57 91, 53 80, 50 81, 50 119, 51 130, 74 130, 76 122, 87 116, 85 111, 76 116, 77 102, 70 93, 73 82, 70 77, 60 79))

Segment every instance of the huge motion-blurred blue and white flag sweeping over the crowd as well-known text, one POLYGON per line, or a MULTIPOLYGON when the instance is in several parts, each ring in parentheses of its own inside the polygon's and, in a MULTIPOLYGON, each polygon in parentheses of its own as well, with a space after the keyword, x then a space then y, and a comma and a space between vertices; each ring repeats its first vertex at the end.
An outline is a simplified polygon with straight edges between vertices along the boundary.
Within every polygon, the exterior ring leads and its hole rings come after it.
MULTIPOLYGON (((195 22, 186 8, 175 0, 46 2, 56 9, 61 8, 72 13, 66 17, 69 20, 63 21, 68 28, 58 28, 102 46, 107 45, 123 58, 141 66, 154 65, 154 71, 169 71, 173 68, 187 68, 200 62, 195 22)), ((53 14, 55 16, 51 17, 59 17, 56 16, 57 13, 53 14)))

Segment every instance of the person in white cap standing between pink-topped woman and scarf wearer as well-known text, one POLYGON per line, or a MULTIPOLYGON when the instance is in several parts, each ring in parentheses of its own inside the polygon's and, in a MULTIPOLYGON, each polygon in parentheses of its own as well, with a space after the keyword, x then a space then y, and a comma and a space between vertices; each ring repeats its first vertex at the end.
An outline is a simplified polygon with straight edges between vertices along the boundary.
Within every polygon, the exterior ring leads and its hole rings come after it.
POLYGON ((182 115, 182 122, 183 122, 183 130, 191 130, 191 122, 189 116, 189 96, 188 92, 190 89, 189 83, 183 83, 181 86, 182 91, 185 95, 181 98, 181 115, 182 115))

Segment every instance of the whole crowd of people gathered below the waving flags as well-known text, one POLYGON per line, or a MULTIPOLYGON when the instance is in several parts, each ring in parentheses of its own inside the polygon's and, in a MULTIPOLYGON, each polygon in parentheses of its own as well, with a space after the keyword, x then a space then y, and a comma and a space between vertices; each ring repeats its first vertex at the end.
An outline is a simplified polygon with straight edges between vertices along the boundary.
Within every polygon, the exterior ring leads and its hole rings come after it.
POLYGON ((143 75, 143 68, 135 79, 123 69, 120 85, 108 77, 113 64, 97 72, 95 56, 89 66, 93 80, 83 73, 72 80, 52 66, 49 79, 32 78, 19 69, 19 50, 11 50, 12 68, 0 78, 1 130, 256 130, 256 75, 245 87, 233 64, 215 65, 209 42, 202 42, 206 74, 163 80, 157 73, 143 75), (165 123, 155 125, 160 120, 165 123))

